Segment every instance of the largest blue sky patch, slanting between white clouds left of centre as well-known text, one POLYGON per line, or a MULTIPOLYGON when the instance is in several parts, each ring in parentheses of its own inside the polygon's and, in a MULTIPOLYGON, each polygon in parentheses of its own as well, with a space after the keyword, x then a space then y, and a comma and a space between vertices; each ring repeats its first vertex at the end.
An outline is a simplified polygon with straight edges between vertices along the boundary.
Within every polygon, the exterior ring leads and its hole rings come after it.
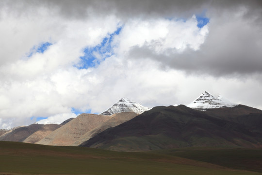
POLYGON ((115 35, 119 35, 122 27, 117 28, 117 30, 104 37, 102 42, 95 47, 86 47, 84 49, 84 55, 80 57, 81 66, 78 69, 87 69, 90 67, 96 67, 101 61, 105 60, 114 54, 112 41, 115 35))

